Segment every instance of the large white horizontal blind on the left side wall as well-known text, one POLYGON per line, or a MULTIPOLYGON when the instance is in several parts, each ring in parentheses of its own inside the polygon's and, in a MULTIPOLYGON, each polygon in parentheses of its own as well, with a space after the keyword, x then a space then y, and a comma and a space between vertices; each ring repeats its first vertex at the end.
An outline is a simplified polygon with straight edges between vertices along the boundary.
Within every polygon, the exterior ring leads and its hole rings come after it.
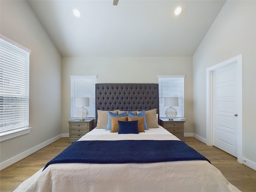
POLYGON ((0 132, 29 124, 30 50, 0 36, 0 132))

